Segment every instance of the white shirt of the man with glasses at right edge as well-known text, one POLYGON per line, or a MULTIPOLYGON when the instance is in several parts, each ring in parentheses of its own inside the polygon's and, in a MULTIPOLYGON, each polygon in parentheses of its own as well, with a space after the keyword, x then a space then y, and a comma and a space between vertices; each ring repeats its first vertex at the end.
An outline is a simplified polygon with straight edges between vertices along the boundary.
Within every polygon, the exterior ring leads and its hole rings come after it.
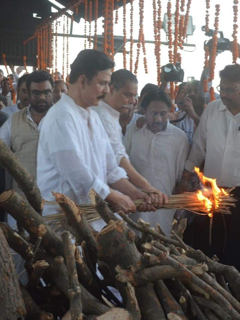
POLYGON ((204 109, 185 168, 204 160, 205 176, 222 187, 240 186, 240 113, 233 116, 221 99, 204 109))

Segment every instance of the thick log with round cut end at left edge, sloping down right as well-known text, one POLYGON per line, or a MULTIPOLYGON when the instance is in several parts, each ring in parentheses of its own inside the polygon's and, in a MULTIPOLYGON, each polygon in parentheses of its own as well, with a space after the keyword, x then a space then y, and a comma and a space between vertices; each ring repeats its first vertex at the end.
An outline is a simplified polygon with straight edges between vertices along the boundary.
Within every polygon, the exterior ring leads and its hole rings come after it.
POLYGON ((41 245, 53 257, 63 255, 60 238, 49 227, 33 207, 14 190, 4 191, 0 195, 2 206, 13 218, 27 230, 33 238, 42 237, 41 245))

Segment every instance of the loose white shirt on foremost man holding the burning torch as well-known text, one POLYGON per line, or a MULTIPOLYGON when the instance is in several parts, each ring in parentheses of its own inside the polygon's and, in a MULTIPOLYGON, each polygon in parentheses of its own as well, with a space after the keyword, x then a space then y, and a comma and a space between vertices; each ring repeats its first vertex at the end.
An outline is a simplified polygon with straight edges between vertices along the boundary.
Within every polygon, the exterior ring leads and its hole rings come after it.
POLYGON ((45 116, 39 137, 37 184, 44 199, 53 200, 54 191, 86 204, 91 188, 105 199, 108 184, 122 178, 127 174, 116 164, 97 113, 62 94, 45 116))

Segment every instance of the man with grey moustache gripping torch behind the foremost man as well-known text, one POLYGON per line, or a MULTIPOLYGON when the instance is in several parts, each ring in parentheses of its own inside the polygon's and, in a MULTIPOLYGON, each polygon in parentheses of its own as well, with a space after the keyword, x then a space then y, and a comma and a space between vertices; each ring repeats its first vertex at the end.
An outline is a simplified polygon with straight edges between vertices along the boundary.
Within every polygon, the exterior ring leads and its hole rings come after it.
POLYGON ((128 113, 136 102, 138 92, 138 80, 131 71, 120 69, 112 73, 109 83, 109 93, 99 102, 98 107, 93 107, 104 128, 115 153, 117 164, 127 172, 130 182, 137 188, 151 196, 155 206, 162 205, 166 201, 166 195, 162 194, 132 166, 129 156, 122 143, 122 128, 119 124, 120 113, 128 113))

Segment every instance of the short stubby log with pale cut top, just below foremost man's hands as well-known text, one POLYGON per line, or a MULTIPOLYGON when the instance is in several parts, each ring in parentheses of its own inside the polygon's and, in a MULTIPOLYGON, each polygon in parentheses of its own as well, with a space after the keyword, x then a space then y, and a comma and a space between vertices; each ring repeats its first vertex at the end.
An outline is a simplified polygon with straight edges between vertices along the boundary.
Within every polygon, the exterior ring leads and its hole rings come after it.
POLYGON ((110 220, 119 220, 108 208, 107 203, 95 192, 94 189, 89 191, 89 198, 104 222, 108 224, 110 220))

